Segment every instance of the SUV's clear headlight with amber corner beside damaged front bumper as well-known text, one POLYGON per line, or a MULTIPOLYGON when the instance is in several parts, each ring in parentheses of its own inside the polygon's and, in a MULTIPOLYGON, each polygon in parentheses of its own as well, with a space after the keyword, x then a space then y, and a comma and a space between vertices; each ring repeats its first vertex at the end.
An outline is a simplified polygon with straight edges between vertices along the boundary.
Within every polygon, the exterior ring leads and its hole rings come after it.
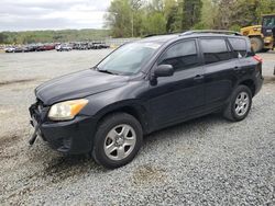
POLYGON ((88 100, 72 100, 54 104, 48 113, 48 118, 52 121, 68 121, 75 116, 88 104, 88 100))

